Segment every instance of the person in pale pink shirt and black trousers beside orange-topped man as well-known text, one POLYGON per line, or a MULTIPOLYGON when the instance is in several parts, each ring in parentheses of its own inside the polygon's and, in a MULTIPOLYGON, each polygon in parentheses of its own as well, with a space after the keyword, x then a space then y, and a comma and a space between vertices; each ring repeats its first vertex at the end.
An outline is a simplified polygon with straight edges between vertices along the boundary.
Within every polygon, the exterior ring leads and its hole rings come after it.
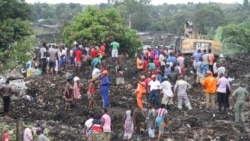
POLYGON ((229 80, 225 78, 224 74, 219 75, 219 80, 217 82, 217 97, 218 97, 218 104, 219 104, 219 112, 221 112, 222 105, 224 107, 224 112, 227 111, 226 105, 226 92, 227 87, 231 89, 229 80))

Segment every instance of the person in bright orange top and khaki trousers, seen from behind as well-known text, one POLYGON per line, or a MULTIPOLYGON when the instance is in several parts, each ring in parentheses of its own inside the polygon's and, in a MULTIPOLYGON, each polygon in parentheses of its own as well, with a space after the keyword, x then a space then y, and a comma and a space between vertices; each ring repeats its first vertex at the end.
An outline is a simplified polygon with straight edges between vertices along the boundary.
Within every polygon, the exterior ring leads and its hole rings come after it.
POLYGON ((201 82, 204 86, 204 93, 206 96, 206 109, 209 108, 211 104, 212 110, 215 110, 215 95, 216 95, 216 85, 217 78, 213 77, 211 71, 207 71, 207 77, 201 82))

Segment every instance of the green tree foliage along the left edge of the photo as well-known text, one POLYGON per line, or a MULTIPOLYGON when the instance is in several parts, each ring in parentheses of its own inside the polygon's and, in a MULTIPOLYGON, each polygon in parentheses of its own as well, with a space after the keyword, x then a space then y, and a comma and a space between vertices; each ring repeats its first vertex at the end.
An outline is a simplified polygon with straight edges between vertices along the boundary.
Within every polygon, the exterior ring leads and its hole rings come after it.
POLYGON ((31 45, 27 37, 32 34, 30 10, 24 0, 0 1, 0 62, 10 68, 27 61, 31 45))

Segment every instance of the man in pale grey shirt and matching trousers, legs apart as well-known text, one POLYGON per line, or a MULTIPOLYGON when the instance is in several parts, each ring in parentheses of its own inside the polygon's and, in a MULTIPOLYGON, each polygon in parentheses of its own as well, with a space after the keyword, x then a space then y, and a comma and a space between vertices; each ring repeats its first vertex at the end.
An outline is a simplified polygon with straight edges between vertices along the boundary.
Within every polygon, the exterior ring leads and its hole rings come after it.
POLYGON ((184 80, 184 77, 181 75, 179 76, 179 80, 176 82, 174 86, 174 93, 175 96, 177 96, 178 100, 178 109, 182 110, 182 100, 184 99, 185 106, 188 108, 188 110, 192 110, 191 104, 189 102, 188 96, 187 96, 187 90, 191 88, 191 85, 184 80))

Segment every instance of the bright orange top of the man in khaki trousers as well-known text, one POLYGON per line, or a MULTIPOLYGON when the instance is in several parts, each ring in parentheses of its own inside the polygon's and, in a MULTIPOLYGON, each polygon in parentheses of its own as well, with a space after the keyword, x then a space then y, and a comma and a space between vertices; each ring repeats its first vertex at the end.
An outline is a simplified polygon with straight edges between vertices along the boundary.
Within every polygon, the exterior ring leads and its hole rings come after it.
POLYGON ((204 92, 215 94, 217 89, 217 81, 217 78, 213 76, 206 77, 201 83, 204 86, 204 92))

